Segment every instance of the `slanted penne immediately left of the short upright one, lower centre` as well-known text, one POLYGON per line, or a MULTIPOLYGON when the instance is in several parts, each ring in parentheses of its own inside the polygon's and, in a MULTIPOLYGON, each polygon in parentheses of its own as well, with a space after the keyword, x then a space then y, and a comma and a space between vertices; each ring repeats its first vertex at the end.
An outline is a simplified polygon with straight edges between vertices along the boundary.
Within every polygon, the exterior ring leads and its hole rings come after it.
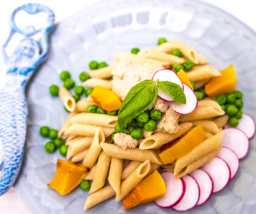
POLYGON ((89 194, 98 191, 105 184, 105 180, 107 177, 107 172, 109 171, 110 157, 102 151, 100 153, 98 164, 95 169, 95 173, 93 175, 93 182, 91 183, 91 188, 89 194))

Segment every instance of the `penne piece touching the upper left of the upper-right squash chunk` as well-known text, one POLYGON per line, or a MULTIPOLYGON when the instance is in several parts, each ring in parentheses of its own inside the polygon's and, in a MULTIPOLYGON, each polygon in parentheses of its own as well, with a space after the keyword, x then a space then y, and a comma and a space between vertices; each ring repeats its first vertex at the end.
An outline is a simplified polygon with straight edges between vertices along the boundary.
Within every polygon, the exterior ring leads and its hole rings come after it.
POLYGON ((219 77, 221 72, 210 65, 194 66, 192 70, 187 72, 190 81, 201 81, 203 79, 209 79, 212 77, 219 77))

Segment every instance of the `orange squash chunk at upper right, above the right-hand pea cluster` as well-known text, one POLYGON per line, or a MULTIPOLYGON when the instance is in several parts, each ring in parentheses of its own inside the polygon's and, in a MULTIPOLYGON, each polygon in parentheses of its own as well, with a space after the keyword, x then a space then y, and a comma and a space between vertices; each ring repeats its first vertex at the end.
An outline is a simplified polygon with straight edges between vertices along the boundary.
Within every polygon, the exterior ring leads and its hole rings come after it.
POLYGON ((208 84, 205 85, 205 93, 209 97, 217 97, 226 95, 235 91, 237 86, 237 76, 234 66, 221 70, 221 76, 213 77, 208 84))

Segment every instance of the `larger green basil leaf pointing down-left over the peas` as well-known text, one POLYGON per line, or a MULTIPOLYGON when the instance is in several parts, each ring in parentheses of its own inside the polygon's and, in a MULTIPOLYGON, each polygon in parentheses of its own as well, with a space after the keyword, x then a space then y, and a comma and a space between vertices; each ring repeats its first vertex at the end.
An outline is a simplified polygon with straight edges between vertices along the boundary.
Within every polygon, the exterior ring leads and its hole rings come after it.
POLYGON ((132 119, 151 106, 158 95, 156 83, 146 79, 129 90, 118 113, 118 124, 125 128, 132 119))

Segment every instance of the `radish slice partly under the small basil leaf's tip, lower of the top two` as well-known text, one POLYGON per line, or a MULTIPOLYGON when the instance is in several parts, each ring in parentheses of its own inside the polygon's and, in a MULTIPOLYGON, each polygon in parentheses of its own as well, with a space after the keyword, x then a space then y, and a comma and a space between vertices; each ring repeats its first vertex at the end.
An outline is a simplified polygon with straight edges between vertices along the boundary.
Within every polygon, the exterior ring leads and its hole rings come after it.
POLYGON ((194 91, 188 87, 187 85, 183 84, 184 86, 184 94, 186 97, 186 104, 178 104, 176 102, 173 102, 170 104, 171 108, 176 111, 176 113, 179 113, 181 115, 187 115, 189 113, 192 113, 192 111, 197 106, 197 98, 194 93, 194 91))

